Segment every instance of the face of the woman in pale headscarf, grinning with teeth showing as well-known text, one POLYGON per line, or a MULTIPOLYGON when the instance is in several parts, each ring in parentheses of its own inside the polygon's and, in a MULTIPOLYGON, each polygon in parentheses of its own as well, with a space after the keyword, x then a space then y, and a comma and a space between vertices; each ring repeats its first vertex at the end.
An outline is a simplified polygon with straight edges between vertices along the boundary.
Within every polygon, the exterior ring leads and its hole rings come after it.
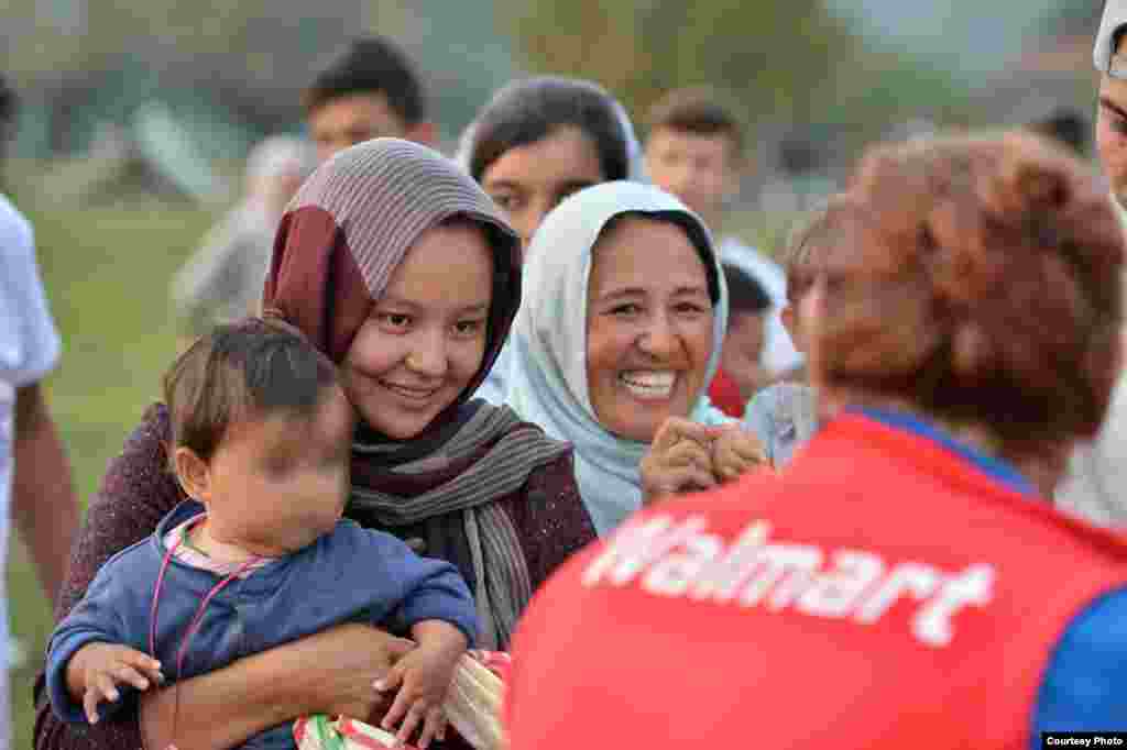
POLYGON ((706 385, 712 300, 700 252, 671 222, 628 216, 595 244, 587 390, 598 421, 642 443, 686 417, 706 385))

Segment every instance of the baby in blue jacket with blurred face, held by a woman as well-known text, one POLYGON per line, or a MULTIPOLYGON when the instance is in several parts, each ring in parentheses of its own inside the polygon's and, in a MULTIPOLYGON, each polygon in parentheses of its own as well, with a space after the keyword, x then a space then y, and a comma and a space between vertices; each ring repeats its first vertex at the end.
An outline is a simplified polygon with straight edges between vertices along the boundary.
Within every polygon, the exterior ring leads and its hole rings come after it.
MULTIPOLYGON (((420 748, 442 739, 443 698, 477 634, 473 600, 450 563, 341 519, 353 414, 332 364, 284 324, 249 320, 181 355, 165 398, 171 468, 190 500, 110 559, 59 624, 54 712, 97 723, 140 690, 366 622, 418 644, 375 685, 398 690, 384 729, 398 725, 401 742, 418 732, 420 748)), ((292 723, 247 747, 295 747, 292 723)))

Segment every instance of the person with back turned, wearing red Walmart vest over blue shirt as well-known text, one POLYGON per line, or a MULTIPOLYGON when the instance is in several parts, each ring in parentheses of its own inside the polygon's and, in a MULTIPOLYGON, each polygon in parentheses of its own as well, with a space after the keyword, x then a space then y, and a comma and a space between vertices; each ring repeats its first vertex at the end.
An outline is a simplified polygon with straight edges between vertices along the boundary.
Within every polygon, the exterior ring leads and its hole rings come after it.
POLYGON ((548 581, 512 750, 1127 730, 1127 538, 1035 490, 1119 372, 1110 203, 1030 134, 878 146, 849 185, 804 297, 845 405, 788 472, 651 506, 548 581))

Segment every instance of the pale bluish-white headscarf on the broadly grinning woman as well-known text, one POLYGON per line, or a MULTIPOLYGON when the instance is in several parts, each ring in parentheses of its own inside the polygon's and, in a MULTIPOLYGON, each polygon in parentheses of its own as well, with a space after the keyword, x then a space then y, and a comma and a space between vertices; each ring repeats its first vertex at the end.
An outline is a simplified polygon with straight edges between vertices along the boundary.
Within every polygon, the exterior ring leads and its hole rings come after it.
MULTIPOLYGON (((524 266, 523 302, 509 336, 506 402, 550 437, 575 445, 579 493, 600 535, 641 506, 638 463, 649 447, 603 427, 587 390, 592 250, 607 222, 624 213, 676 214, 695 229, 690 235, 708 257, 709 288, 716 296, 706 384, 716 374, 728 319, 728 292, 704 223, 656 187, 623 180, 580 190, 557 206, 533 236, 524 266)), ((693 401, 692 419, 701 418, 704 391, 693 401)))

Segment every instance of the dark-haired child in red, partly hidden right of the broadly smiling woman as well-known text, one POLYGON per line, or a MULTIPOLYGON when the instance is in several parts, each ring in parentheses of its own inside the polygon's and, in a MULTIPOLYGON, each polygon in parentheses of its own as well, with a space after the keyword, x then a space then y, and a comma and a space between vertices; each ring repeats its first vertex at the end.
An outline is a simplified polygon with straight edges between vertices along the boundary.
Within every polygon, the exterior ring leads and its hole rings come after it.
POLYGON ((747 402, 771 380, 762 365, 771 297, 738 266, 724 264, 724 278, 728 283, 728 330, 720 369, 709 384, 708 396, 720 411, 739 419, 747 402))

